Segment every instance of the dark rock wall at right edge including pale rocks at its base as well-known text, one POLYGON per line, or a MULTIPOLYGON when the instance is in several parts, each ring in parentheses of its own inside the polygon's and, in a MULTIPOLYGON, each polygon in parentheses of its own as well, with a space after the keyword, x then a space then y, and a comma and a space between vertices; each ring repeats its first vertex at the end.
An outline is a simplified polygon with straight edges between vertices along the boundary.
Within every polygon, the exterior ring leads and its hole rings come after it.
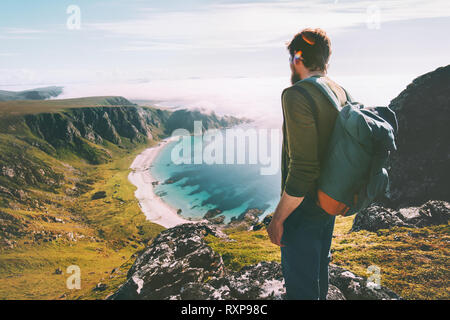
POLYGON ((390 198, 360 212, 352 230, 447 224, 450 218, 450 65, 424 74, 393 99, 397 151, 390 198))

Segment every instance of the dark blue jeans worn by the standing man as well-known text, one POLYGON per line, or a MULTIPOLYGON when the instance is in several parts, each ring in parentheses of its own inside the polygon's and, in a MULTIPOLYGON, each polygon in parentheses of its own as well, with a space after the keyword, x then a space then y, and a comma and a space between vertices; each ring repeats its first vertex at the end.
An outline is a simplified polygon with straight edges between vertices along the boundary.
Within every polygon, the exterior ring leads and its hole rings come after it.
POLYGON ((334 220, 307 196, 284 222, 281 268, 287 299, 326 299, 334 220))

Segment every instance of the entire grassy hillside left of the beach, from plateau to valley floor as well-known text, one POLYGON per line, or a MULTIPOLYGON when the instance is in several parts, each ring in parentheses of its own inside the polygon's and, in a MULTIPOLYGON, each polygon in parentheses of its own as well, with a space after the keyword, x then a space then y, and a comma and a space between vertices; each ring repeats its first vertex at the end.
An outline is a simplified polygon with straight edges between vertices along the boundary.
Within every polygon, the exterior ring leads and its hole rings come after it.
MULTIPOLYGON (((149 127, 153 139, 128 138, 119 135, 119 127, 104 128, 115 132, 119 144, 97 133, 90 141, 91 132, 65 136, 66 128, 74 128, 72 122, 84 119, 83 113, 96 112, 77 113, 74 107, 124 102, 96 97, 0 103, 0 299, 76 298, 130 263, 163 230, 146 221, 127 179, 133 159, 156 143, 163 127, 149 127), (30 127, 27 114, 44 111, 54 113, 56 120, 48 123, 38 115, 33 119, 42 121, 30 127), (61 123, 59 132, 42 131, 61 123), (93 163, 92 154, 105 158, 93 163), (97 192, 104 197, 93 197, 97 192), (81 290, 66 288, 70 265, 81 268, 81 290)), ((149 117, 156 114, 151 108, 146 112, 149 117)), ((83 121, 80 130, 90 126, 83 121)))

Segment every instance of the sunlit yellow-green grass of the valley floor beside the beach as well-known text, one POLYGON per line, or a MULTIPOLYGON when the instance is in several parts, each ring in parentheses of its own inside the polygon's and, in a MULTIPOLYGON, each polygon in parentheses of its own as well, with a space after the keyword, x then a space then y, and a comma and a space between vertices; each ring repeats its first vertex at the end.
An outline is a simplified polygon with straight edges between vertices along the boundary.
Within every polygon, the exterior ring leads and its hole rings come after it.
POLYGON ((18 205, 16 209, 2 209, 27 223, 27 235, 17 239, 14 249, 0 249, 0 299, 104 298, 125 281, 132 255, 164 229, 145 219, 134 197, 135 187, 128 181, 131 162, 150 145, 123 149, 109 144, 106 147, 112 161, 101 165, 88 164, 70 154, 56 160, 42 151, 32 150, 34 156, 52 162, 52 168, 64 174, 60 190, 83 181, 89 181, 90 190, 69 197, 61 192, 31 189, 31 198, 49 202, 45 208, 30 210, 18 205), (106 191, 107 197, 91 200, 97 191, 106 191), (61 218, 65 223, 42 221, 43 215, 61 218), (72 232, 82 238, 33 241, 32 233, 40 231, 56 235, 72 232), (69 275, 65 270, 69 265, 81 268, 81 290, 66 288, 69 275), (57 268, 64 274, 54 274, 57 268), (114 268, 119 271, 111 275, 114 268), (92 291, 97 283, 105 281, 109 283, 108 290, 92 291))

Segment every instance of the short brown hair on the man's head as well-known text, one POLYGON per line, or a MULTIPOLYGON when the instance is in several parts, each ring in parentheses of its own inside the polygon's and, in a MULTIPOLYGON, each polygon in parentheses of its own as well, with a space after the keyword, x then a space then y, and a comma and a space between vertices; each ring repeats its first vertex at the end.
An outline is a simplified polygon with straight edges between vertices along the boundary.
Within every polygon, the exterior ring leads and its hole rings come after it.
POLYGON ((303 64, 311 71, 327 71, 331 41, 322 29, 304 29, 287 45, 291 57, 301 51, 303 64))

